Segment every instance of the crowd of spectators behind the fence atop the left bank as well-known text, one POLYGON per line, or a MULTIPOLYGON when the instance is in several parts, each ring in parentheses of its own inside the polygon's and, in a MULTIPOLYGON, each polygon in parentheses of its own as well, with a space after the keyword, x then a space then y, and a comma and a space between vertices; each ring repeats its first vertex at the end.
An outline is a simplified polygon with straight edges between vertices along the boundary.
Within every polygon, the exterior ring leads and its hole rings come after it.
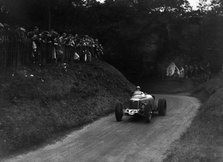
POLYGON ((54 30, 41 31, 35 27, 11 27, 0 23, 1 65, 44 65, 48 63, 91 62, 100 59, 103 47, 98 39, 88 35, 59 34, 54 30))

